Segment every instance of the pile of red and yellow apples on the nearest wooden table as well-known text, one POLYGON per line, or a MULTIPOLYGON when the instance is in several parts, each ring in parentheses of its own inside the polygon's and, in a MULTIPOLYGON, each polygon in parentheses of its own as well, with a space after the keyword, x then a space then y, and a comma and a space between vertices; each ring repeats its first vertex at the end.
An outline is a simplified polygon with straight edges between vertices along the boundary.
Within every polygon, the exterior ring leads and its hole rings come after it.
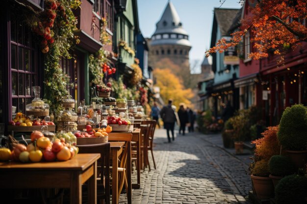
POLYGON ((51 142, 43 133, 34 131, 31 133, 32 143, 25 146, 17 144, 13 151, 4 148, 2 151, 2 160, 14 160, 21 162, 39 162, 39 161, 66 161, 77 155, 78 148, 65 143, 65 139, 55 139, 51 142), (8 155, 10 154, 10 157, 8 155))

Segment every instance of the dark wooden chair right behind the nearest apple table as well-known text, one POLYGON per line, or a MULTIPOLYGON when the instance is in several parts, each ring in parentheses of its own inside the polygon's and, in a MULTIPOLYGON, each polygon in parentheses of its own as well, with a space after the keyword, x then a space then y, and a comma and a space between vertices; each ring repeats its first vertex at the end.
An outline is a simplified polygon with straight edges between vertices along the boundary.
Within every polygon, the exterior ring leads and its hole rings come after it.
POLYGON ((97 200, 100 200, 101 204, 102 200, 105 204, 110 204, 110 143, 76 146, 79 148, 79 154, 100 153, 101 158, 97 164, 97 200))

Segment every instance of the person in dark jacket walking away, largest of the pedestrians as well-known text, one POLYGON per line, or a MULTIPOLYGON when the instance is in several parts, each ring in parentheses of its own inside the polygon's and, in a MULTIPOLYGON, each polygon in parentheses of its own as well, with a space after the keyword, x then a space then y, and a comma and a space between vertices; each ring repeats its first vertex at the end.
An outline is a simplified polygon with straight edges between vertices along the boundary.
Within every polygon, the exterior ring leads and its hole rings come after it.
POLYGON ((171 137, 169 131, 172 133, 173 141, 175 140, 174 137, 174 127, 175 127, 175 121, 176 121, 176 115, 175 111, 172 108, 172 99, 168 100, 168 105, 164 106, 162 110, 160 111, 160 116, 164 123, 164 128, 166 129, 168 142, 171 142, 171 137))

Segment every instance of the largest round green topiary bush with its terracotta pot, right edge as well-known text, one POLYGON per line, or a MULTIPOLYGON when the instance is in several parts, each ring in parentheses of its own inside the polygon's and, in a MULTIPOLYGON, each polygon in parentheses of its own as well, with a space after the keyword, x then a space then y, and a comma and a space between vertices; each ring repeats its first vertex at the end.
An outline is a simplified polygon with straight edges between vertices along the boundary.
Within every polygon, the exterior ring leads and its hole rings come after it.
POLYGON ((281 116, 278 138, 297 168, 307 157, 307 108, 302 104, 287 107, 281 116))

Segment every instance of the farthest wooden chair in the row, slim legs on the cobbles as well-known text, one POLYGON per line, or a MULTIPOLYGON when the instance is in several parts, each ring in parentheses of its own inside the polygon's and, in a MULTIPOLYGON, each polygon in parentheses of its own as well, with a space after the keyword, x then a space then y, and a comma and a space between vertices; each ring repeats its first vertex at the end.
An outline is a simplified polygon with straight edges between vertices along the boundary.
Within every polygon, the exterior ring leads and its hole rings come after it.
POLYGON ((155 120, 145 120, 145 121, 142 121, 142 124, 148 125, 147 133, 144 137, 144 147, 143 147, 144 161, 145 161, 144 162, 144 170, 145 170, 145 167, 147 165, 149 167, 149 170, 151 170, 150 164, 149 164, 149 159, 148 159, 148 150, 150 150, 151 153, 152 153, 153 166, 154 166, 154 169, 156 169, 155 161, 154 161, 154 157, 153 157, 153 135, 154 135, 154 130, 155 130, 155 126, 156 126, 156 121, 155 120))

